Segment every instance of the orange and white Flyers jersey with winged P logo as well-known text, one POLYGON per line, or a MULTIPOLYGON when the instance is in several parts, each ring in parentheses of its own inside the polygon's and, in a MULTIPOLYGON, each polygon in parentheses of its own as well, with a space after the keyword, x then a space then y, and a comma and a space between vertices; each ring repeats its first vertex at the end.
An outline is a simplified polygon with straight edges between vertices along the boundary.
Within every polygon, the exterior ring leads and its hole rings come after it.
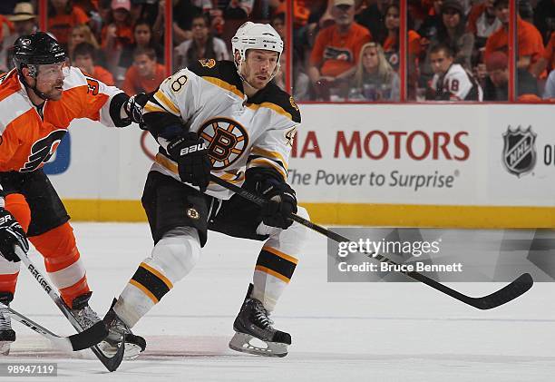
POLYGON ((85 77, 77 68, 68 71, 62 98, 46 101, 43 116, 15 70, 0 77, 0 171, 28 172, 43 167, 76 118, 116 125, 110 106, 114 95, 122 91, 85 77))

